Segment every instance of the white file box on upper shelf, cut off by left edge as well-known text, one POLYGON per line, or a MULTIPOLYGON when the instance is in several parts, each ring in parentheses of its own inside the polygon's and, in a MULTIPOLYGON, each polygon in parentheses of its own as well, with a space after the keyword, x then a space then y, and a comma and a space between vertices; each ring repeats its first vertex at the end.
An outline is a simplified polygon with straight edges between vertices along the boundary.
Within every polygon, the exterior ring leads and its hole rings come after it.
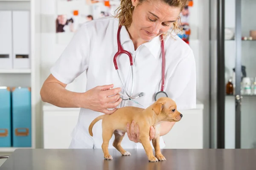
POLYGON ((12 69, 12 11, 0 11, 0 69, 12 69))

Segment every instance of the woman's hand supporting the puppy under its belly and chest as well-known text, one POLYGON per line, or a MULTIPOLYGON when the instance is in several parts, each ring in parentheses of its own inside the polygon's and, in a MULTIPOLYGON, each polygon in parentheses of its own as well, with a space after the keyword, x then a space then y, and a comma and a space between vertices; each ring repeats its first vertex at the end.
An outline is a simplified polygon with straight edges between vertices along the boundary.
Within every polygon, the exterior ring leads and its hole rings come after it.
MULTIPOLYGON (((135 143, 140 142, 140 128, 139 128, 139 125, 137 125, 134 121, 132 121, 131 125, 129 123, 127 124, 126 130, 127 130, 128 138, 131 141, 133 141, 135 143)), ((154 130, 154 127, 151 126, 150 130, 149 130, 149 141, 151 141, 154 138, 154 135, 155 135, 155 130, 154 130)))

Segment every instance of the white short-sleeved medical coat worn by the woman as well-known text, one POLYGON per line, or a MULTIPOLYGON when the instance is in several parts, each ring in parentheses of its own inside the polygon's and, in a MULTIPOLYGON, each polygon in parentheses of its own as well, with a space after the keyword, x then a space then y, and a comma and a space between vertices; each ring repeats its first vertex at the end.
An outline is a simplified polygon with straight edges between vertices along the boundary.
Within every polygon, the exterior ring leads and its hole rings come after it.
MULTIPOLYGON (((122 88, 113 64, 113 56, 117 51, 116 34, 118 19, 104 17, 84 23, 75 33, 61 56, 51 68, 51 74, 59 81, 69 84, 86 71, 86 90, 98 85, 113 84, 114 88, 122 88)), ((159 37, 146 42, 134 51, 128 31, 122 26, 120 32, 122 47, 131 52, 134 60, 134 91, 133 96, 141 92, 144 96, 136 100, 148 107, 154 102, 154 95, 160 91, 162 78, 162 54, 159 37)), ((189 45, 179 37, 169 37, 165 40, 165 86, 164 91, 177 103, 177 110, 195 108, 196 105, 196 76, 195 59, 189 45)), ((131 66, 127 55, 117 58, 119 74, 128 92, 131 91, 131 66)), ((122 94, 125 94, 122 91, 122 94)), ((119 107, 136 106, 131 101, 122 101, 119 107)), ((93 127, 93 137, 89 135, 88 127, 97 116, 103 113, 81 108, 79 120, 72 132, 70 148, 101 148, 102 126, 100 120, 93 127)), ((182 135, 182 134, 180 134, 182 135)), ((114 136, 109 148, 113 148, 114 136)), ((175 139, 174 139, 175 140, 175 139)), ((128 139, 127 134, 122 140, 123 148, 143 148, 141 143, 128 139)), ((165 143, 160 137, 160 148, 165 143)))

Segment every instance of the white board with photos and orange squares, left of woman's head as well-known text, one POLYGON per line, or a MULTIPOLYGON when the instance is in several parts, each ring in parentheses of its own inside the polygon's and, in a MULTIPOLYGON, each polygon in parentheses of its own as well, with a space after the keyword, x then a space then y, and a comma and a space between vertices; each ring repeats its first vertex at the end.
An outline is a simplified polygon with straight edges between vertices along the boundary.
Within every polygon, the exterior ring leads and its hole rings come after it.
POLYGON ((70 42, 82 24, 114 15, 120 0, 57 0, 55 31, 58 44, 70 42))

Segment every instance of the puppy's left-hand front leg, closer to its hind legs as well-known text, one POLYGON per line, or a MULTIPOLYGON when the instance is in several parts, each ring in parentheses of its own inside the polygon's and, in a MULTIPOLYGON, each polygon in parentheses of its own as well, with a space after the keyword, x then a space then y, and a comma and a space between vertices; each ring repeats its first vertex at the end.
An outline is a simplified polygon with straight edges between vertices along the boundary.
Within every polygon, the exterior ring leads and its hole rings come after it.
POLYGON ((140 134, 140 142, 143 145, 145 152, 148 156, 148 161, 157 162, 158 159, 154 156, 153 149, 149 141, 149 133, 148 135, 140 134))

